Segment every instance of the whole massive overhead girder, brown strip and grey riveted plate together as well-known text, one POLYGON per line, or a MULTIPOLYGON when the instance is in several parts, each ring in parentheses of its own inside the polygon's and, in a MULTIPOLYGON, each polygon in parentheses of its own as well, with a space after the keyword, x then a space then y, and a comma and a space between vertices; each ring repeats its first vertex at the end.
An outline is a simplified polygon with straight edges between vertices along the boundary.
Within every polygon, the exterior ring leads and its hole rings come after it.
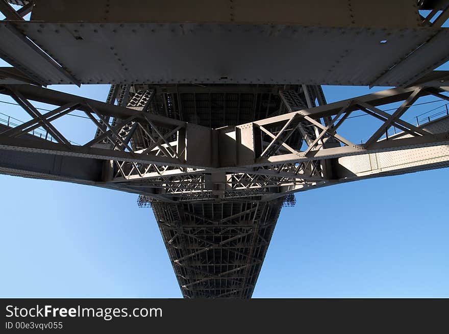
POLYGON ((352 0, 344 6, 333 0, 282 6, 237 0, 231 7, 225 0, 214 5, 132 0, 126 6, 122 1, 37 0, 31 21, 23 21, 30 4, 20 13, 8 12, 21 21, 0 25, 1 56, 44 85, 402 86, 439 66, 448 54, 448 30, 439 27, 447 10, 431 25, 424 24, 414 0, 352 0), (142 47, 169 52, 153 53, 151 61, 145 52, 128 52, 142 47), (287 51, 276 53, 279 49, 287 51), (280 61, 271 62, 273 57, 280 61), (252 66, 243 65, 250 62, 252 66))

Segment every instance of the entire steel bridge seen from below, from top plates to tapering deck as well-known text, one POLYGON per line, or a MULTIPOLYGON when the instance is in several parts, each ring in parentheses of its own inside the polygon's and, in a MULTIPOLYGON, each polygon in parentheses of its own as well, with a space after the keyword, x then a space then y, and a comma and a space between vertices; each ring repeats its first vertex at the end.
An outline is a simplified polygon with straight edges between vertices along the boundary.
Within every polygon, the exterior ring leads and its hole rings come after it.
POLYGON ((186 298, 251 297, 295 192, 449 166, 449 117, 403 117, 422 97, 449 100, 449 72, 435 71, 449 60, 447 0, 0 0, 0 11, 12 65, 0 93, 31 117, 0 124, 0 173, 138 194, 186 298), (101 102, 45 88, 57 84, 111 89, 101 102), (328 104, 321 85, 394 88, 328 104), (96 128, 88 142, 52 124, 75 111, 96 128), (356 112, 377 124, 360 144, 347 139, 356 112))

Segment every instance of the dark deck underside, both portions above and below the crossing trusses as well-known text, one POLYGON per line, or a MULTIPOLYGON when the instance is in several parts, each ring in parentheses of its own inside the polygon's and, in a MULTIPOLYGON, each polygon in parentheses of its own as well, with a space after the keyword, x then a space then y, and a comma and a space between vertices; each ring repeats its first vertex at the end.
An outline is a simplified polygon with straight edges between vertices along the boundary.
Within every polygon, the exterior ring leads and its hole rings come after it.
MULTIPOLYGON (((134 89, 151 86, 135 85, 134 89)), ((278 89, 271 85, 162 85, 149 111, 214 128, 237 125, 286 112, 278 89)), ((268 202, 248 197, 152 202, 183 296, 250 298, 283 201, 283 197, 268 202)))

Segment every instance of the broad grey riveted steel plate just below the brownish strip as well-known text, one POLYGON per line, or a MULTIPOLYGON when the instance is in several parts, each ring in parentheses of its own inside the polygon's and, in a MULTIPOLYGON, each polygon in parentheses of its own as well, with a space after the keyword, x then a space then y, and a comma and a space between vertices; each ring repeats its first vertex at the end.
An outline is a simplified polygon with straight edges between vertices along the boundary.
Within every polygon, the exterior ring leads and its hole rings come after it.
MULTIPOLYGON (((426 46, 440 31, 431 28, 39 22, 23 22, 18 27, 85 84, 376 82, 398 86, 411 80, 416 64, 409 62, 402 66, 400 76, 383 79, 392 64, 418 46, 422 55, 446 47, 442 38, 426 46)), ((1 47, 8 50, 19 45, 1 47)), ((433 69, 432 64, 419 66, 433 69)), ((68 83, 60 73, 48 74, 49 70, 45 66, 36 69, 48 83, 68 83)))

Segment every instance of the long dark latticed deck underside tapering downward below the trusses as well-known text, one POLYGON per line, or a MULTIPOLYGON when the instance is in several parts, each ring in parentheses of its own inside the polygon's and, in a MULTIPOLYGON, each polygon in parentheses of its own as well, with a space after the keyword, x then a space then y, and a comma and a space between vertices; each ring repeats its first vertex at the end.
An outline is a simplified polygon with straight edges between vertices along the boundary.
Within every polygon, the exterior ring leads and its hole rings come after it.
POLYGON ((282 201, 153 202, 184 297, 250 298, 282 201))

